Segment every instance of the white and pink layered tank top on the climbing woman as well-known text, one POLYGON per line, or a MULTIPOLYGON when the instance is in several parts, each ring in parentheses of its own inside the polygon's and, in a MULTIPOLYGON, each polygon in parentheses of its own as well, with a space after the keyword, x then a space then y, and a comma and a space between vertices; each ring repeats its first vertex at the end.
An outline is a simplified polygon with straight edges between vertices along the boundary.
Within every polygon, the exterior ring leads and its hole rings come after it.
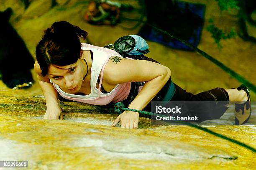
POLYGON ((62 91, 57 84, 53 83, 54 88, 65 99, 80 101, 80 102, 95 104, 95 105, 105 105, 110 103, 111 101, 118 102, 126 99, 131 90, 131 82, 118 84, 109 93, 102 93, 100 91, 103 72, 109 58, 111 56, 118 56, 121 58, 123 57, 120 56, 120 54, 117 53, 116 51, 110 50, 108 48, 97 47, 97 46, 93 46, 85 43, 81 43, 81 44, 82 44, 82 47, 81 47, 82 50, 91 50, 93 53, 91 80, 90 80, 91 93, 89 95, 69 94, 62 91), (100 71, 101 71, 100 84, 99 84, 99 88, 97 89, 96 84, 97 84, 97 79, 100 75, 100 71))

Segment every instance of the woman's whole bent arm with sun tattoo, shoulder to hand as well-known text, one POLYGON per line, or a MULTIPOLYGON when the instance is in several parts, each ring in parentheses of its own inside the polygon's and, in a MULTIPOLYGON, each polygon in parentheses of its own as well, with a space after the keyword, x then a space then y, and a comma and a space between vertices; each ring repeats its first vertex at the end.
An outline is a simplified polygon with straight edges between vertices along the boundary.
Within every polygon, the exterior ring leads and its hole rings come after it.
MULTIPOLYGON (((108 61, 103 79, 109 84, 146 81, 143 88, 128 108, 142 110, 156 96, 171 76, 171 70, 159 63, 146 60, 130 60, 111 57, 108 61)), ((133 129, 138 127, 138 113, 125 111, 120 114, 112 126, 121 122, 121 127, 133 129)))

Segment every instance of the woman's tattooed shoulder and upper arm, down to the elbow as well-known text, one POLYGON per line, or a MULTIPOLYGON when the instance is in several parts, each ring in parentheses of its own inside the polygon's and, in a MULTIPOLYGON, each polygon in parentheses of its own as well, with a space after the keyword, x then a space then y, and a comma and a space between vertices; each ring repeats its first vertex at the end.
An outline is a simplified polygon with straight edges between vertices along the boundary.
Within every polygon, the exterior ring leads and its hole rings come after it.
POLYGON ((120 84, 150 81, 163 74, 170 74, 170 69, 159 63, 112 56, 105 66, 103 77, 109 84, 120 84))

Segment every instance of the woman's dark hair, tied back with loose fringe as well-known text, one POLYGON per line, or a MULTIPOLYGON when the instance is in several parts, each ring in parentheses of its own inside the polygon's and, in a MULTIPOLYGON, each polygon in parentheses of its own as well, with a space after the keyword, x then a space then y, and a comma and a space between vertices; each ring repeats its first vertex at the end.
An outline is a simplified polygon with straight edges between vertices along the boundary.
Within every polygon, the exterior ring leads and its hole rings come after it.
POLYGON ((81 43, 87 32, 67 21, 55 22, 44 31, 44 36, 36 46, 36 59, 42 75, 46 76, 50 64, 67 66, 77 62, 81 43))

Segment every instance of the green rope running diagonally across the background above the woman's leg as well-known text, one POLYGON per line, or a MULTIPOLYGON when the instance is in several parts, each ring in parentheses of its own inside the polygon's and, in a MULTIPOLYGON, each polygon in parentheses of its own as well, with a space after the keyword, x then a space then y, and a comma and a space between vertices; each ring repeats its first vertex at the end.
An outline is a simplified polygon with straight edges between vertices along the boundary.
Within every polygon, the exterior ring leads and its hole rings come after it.
POLYGON ((250 81, 248 81, 247 79, 245 79, 243 76, 239 75, 238 73, 236 73, 235 71, 233 71, 232 69, 228 68, 227 66, 225 66, 223 63, 221 63, 220 61, 218 61, 217 59, 213 58, 212 56, 210 56, 209 54, 205 53, 204 51, 200 50, 199 48, 193 46, 192 44, 190 44, 187 41, 184 41, 180 38, 178 38, 177 36, 174 36, 173 34, 170 34, 164 30, 161 30, 160 28, 155 27, 154 25, 151 25, 149 23, 147 23, 146 21, 143 21, 141 19, 131 19, 131 18, 125 18, 122 17, 125 20, 131 20, 131 21, 138 21, 141 23, 145 23, 146 25, 151 26, 152 28, 161 31, 162 33, 180 41, 181 43, 185 44, 186 46, 189 46, 191 49, 197 51, 198 53, 200 53, 202 56, 204 56, 205 58, 207 58, 208 60, 212 61, 213 63, 215 63, 217 66, 219 66, 221 69, 223 69, 226 73, 228 73, 230 76, 232 76, 233 78, 235 78, 236 80, 240 81, 242 84, 245 84, 246 86, 249 87, 249 89, 251 89, 254 93, 256 93, 256 86, 254 84, 252 84, 250 81))

